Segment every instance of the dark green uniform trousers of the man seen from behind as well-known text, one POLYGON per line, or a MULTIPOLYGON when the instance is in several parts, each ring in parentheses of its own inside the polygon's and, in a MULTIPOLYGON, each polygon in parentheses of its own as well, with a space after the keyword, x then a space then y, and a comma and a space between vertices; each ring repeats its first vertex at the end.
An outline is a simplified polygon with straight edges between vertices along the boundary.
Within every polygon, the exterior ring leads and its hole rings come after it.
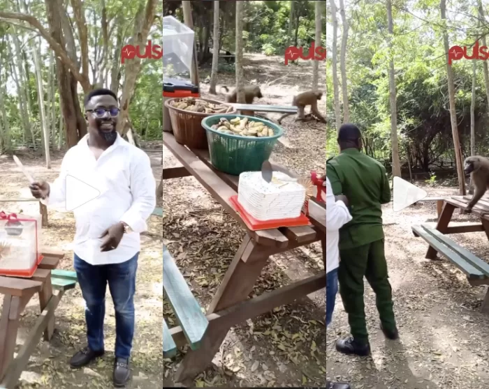
POLYGON ((388 280, 384 239, 359 247, 340 250, 338 280, 344 310, 348 314, 351 335, 367 342, 367 323, 363 301, 363 277, 377 296, 377 310, 385 330, 395 329, 392 288, 388 280))

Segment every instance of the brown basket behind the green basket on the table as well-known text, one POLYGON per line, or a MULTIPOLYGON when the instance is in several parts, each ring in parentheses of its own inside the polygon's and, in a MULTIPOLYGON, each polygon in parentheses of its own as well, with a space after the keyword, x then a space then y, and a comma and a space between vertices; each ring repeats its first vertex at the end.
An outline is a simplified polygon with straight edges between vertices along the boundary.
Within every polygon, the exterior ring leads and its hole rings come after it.
MULTIPOLYGON (((174 100, 182 100, 181 98, 171 98, 165 100, 165 107, 168 108, 170 112, 170 121, 173 128, 173 135, 175 140, 188 146, 189 148, 207 148, 207 135, 205 129, 203 128, 201 122, 207 116, 212 116, 215 114, 206 114, 203 112, 191 112, 185 111, 184 109, 178 109, 171 105, 174 100)), ((224 102, 210 100, 207 98, 199 98, 199 100, 204 100, 212 104, 225 105, 224 102)), ((235 114, 236 110, 233 109, 227 114, 235 114)))

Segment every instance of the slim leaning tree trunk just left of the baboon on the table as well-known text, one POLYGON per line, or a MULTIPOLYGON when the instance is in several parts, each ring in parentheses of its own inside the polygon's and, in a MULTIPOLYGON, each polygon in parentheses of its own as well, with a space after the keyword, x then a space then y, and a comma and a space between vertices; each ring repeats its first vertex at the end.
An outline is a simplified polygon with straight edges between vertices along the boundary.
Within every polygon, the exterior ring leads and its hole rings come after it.
POLYGON ((462 149, 458 137, 457 112, 455 110, 455 86, 453 85, 453 70, 448 65, 448 33, 446 31, 446 0, 440 0, 441 20, 444 23, 443 43, 445 48, 446 75, 448 77, 448 100, 450 102, 450 119, 452 126, 453 148, 455 149, 455 163, 457 165, 458 189, 461 195, 465 195, 465 176, 462 167, 462 149))

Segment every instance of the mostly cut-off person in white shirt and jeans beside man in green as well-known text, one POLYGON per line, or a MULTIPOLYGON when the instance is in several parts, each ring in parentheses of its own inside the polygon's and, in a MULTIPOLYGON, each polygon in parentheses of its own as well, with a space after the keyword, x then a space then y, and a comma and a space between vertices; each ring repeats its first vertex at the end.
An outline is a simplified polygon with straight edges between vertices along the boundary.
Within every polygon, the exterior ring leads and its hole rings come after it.
MULTIPOLYGON (((348 199, 345 196, 333 194, 331 184, 326 175, 323 177, 326 184, 326 328, 333 319, 335 300, 338 293, 338 266, 340 266, 339 230, 351 220, 346 208, 348 199)), ((333 383, 326 381, 328 389, 349 389, 347 383, 333 383)))

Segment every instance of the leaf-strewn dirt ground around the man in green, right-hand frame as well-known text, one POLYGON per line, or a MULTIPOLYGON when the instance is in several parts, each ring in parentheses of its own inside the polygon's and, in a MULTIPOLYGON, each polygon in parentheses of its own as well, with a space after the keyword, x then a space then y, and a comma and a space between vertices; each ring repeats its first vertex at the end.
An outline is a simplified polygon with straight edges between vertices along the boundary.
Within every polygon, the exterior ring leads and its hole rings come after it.
MULTIPOLYGON (((457 188, 419 183, 428 196, 455 195, 457 188)), ((386 257, 393 287, 400 342, 379 330, 374 293, 365 287, 365 312, 372 358, 351 358, 335 351, 349 335, 341 298, 328 329, 328 378, 349 381, 353 389, 486 389, 489 387, 489 316, 479 313, 487 287, 470 287, 448 261, 424 259, 428 245, 411 232, 413 224, 436 222, 435 203, 418 203, 400 212, 384 206, 386 257)), ((455 211, 453 225, 476 222, 455 211)), ((488 259, 486 234, 451 235, 478 257, 488 259)), ((367 282, 365 282, 367 284, 367 282)))

